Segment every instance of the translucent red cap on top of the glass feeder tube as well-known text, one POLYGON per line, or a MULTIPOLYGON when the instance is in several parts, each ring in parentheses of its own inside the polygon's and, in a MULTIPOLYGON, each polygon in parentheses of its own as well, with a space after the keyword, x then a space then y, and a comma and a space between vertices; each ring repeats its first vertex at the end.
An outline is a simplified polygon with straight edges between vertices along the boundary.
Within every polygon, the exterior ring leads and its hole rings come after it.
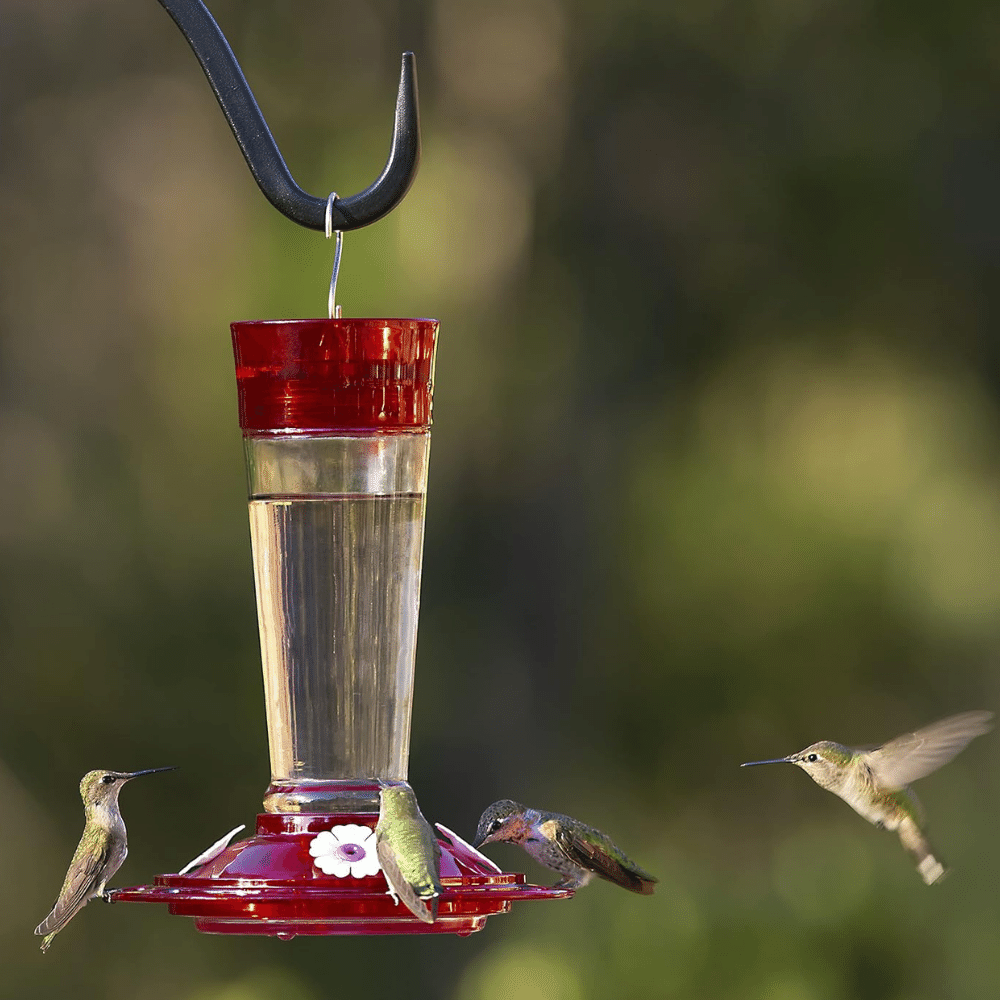
POLYGON ((430 426, 437 320, 249 320, 232 331, 245 436, 430 426))

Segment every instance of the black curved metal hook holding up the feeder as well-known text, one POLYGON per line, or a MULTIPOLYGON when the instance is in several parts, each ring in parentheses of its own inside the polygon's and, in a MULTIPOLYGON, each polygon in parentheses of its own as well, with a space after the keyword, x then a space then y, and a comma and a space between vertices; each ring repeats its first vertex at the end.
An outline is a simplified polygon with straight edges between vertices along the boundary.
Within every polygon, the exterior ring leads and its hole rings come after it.
MULTIPOLYGON (((327 198, 306 194, 292 179, 240 64, 208 8, 201 0, 160 0, 160 4, 194 49, 250 172, 267 200, 300 226, 324 229, 327 198)), ((360 229, 391 212, 413 183, 419 162, 417 71, 413 53, 404 52, 389 159, 374 184, 360 194, 336 199, 332 228, 360 229)))

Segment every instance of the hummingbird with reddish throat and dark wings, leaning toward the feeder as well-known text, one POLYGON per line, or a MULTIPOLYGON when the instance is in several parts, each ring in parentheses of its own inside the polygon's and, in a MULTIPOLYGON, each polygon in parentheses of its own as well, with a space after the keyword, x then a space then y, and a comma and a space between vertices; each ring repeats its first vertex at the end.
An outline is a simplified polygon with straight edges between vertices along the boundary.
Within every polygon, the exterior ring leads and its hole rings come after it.
POLYGON ((510 799, 486 808, 473 847, 506 841, 519 844, 539 864, 559 872, 553 888, 579 889, 595 875, 643 896, 659 879, 643 871, 605 833, 572 816, 529 809, 510 799))

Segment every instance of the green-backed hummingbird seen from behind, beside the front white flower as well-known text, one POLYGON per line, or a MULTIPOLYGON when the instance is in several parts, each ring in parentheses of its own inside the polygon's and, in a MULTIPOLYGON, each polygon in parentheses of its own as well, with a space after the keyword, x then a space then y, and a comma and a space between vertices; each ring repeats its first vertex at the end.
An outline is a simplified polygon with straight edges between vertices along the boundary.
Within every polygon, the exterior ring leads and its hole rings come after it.
POLYGON ((382 785, 375 851, 389 895, 425 924, 437 919, 441 847, 407 784, 382 785))

